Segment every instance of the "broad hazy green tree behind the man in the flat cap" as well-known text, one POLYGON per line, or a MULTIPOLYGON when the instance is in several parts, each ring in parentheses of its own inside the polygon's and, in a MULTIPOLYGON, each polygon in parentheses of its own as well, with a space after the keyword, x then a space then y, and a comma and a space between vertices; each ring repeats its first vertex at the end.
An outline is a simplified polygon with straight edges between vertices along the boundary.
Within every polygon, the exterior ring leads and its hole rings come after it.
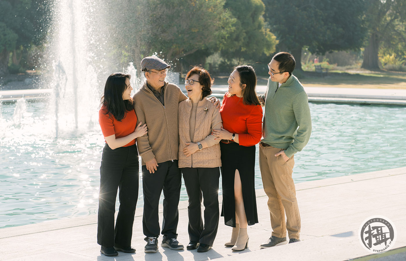
POLYGON ((117 32, 117 50, 124 51, 137 67, 154 52, 168 62, 201 50, 216 52, 225 45, 235 22, 224 4, 225 0, 130 0, 119 6, 114 2, 110 10, 123 13, 118 19, 123 23, 110 25, 117 32), (119 30, 123 24, 125 31, 119 30))

